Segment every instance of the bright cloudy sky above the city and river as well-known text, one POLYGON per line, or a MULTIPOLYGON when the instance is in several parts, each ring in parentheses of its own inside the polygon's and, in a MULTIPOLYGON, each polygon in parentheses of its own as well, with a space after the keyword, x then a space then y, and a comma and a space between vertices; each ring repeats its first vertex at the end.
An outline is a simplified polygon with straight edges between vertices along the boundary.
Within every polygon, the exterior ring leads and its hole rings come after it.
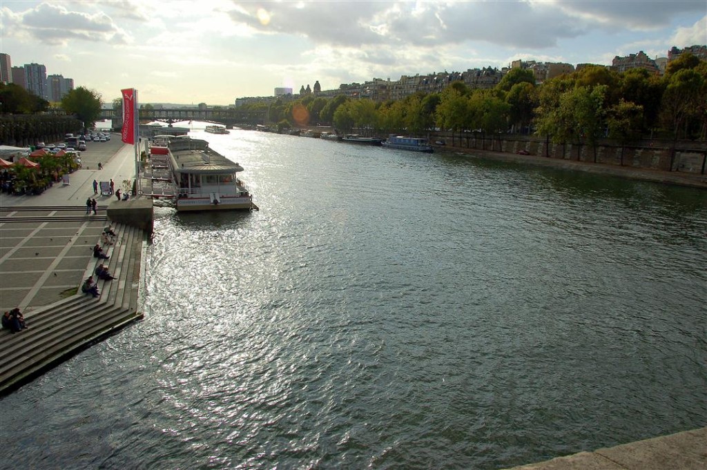
POLYGON ((515 59, 611 64, 707 45, 707 0, 0 0, 0 52, 105 102, 270 96, 515 59))

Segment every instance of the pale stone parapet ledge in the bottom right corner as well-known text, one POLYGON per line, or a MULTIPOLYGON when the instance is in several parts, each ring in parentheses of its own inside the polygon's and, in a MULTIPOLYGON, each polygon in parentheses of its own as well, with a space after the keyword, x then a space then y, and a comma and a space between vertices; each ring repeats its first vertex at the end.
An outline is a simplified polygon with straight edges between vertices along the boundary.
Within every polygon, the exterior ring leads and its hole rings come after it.
POLYGON ((509 470, 704 470, 707 428, 639 440, 509 470))

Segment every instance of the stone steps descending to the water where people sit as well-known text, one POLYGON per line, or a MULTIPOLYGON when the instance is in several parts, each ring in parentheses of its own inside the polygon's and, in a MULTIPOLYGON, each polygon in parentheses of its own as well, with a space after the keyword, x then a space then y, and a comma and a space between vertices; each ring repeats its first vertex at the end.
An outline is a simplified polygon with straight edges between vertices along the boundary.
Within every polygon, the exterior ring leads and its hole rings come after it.
MULTIPOLYGON (((49 218, 52 219, 52 218, 49 218)), ((81 293, 28 312, 29 329, 0 334, 0 392, 29 380, 91 342, 142 317, 136 312, 137 281, 145 236, 139 228, 115 225, 115 245, 107 248, 107 266, 116 278, 98 281, 100 297, 81 293)), ((103 261, 91 257, 84 279, 103 261)), ((94 276, 95 277, 95 276, 94 276)))

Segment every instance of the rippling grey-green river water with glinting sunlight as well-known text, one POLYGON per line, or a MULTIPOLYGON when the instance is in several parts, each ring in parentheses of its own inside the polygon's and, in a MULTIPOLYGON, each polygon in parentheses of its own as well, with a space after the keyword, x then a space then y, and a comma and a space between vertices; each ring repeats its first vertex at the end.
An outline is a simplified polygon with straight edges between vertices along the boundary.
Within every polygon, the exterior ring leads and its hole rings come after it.
POLYGON ((1 468, 496 469, 707 423, 707 194, 194 131, 143 322, 0 401, 1 468))

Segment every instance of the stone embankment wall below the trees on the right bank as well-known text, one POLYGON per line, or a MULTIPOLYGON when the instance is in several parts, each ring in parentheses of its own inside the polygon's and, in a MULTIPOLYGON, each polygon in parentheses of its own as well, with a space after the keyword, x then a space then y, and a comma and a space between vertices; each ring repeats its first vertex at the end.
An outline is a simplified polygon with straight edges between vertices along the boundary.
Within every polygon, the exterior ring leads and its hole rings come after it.
POLYGON ((518 153, 586 163, 603 163, 623 167, 707 174, 707 143, 699 141, 641 141, 620 146, 614 141, 602 140, 596 148, 571 143, 552 143, 537 136, 497 136, 481 133, 431 134, 429 141, 445 141, 447 145, 477 150, 518 153))

